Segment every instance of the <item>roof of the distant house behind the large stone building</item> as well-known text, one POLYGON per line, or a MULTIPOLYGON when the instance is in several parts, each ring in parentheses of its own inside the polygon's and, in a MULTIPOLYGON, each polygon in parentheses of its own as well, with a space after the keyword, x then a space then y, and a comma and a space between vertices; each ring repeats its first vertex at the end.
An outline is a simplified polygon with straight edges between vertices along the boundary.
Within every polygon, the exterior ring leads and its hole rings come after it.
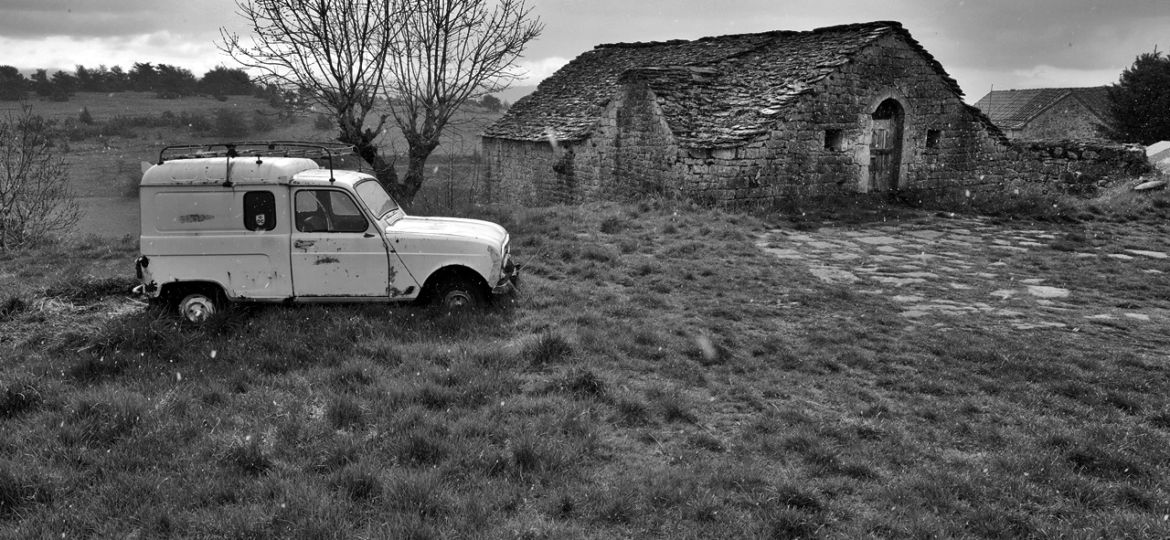
POLYGON ((1064 99, 1078 99, 1104 120, 1109 117, 1109 88, 1035 88, 1028 90, 992 90, 975 106, 1005 130, 1021 130, 1027 123, 1064 99))

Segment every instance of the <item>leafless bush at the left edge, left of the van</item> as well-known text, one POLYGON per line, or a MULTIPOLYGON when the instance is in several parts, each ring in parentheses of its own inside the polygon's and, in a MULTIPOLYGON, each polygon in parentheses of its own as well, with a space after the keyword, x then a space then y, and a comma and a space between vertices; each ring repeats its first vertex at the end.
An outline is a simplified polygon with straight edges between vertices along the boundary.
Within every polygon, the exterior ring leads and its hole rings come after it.
POLYGON ((0 119, 0 251, 64 233, 81 209, 48 123, 28 106, 0 119))

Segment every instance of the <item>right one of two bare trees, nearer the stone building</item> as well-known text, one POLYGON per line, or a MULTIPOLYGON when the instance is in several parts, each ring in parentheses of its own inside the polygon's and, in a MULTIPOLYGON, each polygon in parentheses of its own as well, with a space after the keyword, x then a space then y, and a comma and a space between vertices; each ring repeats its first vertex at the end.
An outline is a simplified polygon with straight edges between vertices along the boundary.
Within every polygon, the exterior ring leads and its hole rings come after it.
POLYGON ((399 198, 410 202, 439 137, 468 99, 500 91, 543 26, 524 0, 404 0, 386 62, 386 98, 410 145, 399 198))

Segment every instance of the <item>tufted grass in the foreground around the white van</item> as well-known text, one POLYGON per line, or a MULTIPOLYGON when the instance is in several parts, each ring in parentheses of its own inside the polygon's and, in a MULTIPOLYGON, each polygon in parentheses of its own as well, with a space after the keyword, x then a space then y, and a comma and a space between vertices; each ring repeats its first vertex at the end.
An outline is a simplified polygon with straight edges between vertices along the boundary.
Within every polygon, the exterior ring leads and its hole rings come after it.
MULTIPOLYGON (((865 210, 459 212, 508 227, 525 263, 521 296, 464 316, 281 306, 192 327, 123 293, 130 240, 16 254, 0 535, 1170 536, 1165 333, 911 325, 756 245, 932 219, 865 210)), ((1170 264, 1076 256, 1166 251, 1168 219, 1163 193, 1002 220, 1053 240, 1000 262, 1170 312, 1170 264)))

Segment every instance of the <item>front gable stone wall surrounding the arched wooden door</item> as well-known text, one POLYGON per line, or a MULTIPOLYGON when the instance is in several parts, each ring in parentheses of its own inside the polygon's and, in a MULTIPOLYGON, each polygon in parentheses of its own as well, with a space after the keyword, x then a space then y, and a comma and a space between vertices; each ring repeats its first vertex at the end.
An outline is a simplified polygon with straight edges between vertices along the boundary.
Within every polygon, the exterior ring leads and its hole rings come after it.
POLYGON ((766 137, 732 148, 686 150, 676 165, 682 189, 731 203, 869 192, 872 113, 886 99, 904 110, 900 187, 996 180, 979 172, 983 162, 1003 159, 1004 141, 921 54, 890 36, 787 108, 766 137), (831 130, 839 133, 839 147, 826 145, 831 130))

